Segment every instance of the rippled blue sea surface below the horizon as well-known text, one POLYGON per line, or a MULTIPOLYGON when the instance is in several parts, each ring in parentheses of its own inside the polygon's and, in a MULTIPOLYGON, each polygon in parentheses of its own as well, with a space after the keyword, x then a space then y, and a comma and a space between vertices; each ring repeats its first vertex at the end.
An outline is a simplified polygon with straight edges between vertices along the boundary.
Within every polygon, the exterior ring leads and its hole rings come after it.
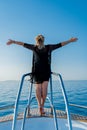
MULTIPOLYGON (((64 99, 59 81, 53 81, 53 104, 56 109, 65 111, 64 99)), ((87 107, 87 80, 66 80, 64 81, 69 103, 87 107)), ((20 81, 0 81, 0 108, 8 105, 14 105, 20 81)), ((19 112, 23 112, 28 101, 30 91, 29 81, 25 81, 19 102, 19 112)), ((35 86, 33 86, 32 96, 35 96, 35 86)), ((50 97, 50 85, 48 87, 48 96, 50 97)), ((37 101, 33 100, 31 107, 36 108, 37 101)), ((46 100, 45 107, 49 108, 49 102, 46 100)), ((0 110, 0 116, 12 114, 12 109, 0 110)), ((87 109, 70 106, 70 112, 87 116, 87 109)))

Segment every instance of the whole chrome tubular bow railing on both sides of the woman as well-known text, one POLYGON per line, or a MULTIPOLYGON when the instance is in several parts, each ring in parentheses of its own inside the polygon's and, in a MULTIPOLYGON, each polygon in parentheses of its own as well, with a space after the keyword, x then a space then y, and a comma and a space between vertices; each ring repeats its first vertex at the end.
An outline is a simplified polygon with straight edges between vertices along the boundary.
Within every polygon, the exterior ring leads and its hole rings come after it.
MULTIPOLYGON (((24 74, 22 76, 22 79, 21 79, 21 84, 20 84, 20 88, 19 88, 19 91, 18 91, 18 94, 17 94, 17 98, 16 98, 16 102, 15 102, 15 109, 14 109, 14 117, 13 117, 13 124, 12 124, 12 130, 15 130, 15 126, 16 126, 16 121, 17 121, 17 113, 18 113, 18 103, 19 103, 19 99, 20 99, 20 95, 21 95, 21 91, 22 91, 22 87, 23 87, 23 82, 24 82, 24 78, 26 76, 30 76, 31 73, 27 73, 27 74, 24 74)), ((60 79, 60 83, 61 83, 61 89, 62 89, 62 93, 63 93, 63 97, 64 97, 64 101, 65 101, 65 105, 66 105, 66 112, 67 112, 67 119, 68 119, 68 127, 69 127, 69 130, 72 130, 72 123, 71 123, 71 117, 70 117, 70 110, 69 110, 69 103, 68 103, 68 98, 67 98, 67 95, 66 95, 66 91, 65 91, 65 87, 64 87, 64 83, 63 83, 63 80, 62 80, 62 76, 60 74, 57 74, 57 73, 53 73, 53 75, 59 77, 60 79)), ((33 98, 31 98, 32 96, 32 83, 31 83, 31 88, 30 88, 30 94, 29 94, 29 97, 28 97, 28 103, 27 103, 27 106, 25 108, 25 111, 24 111, 24 117, 23 117, 23 122, 22 122, 22 127, 21 127, 21 130, 24 130, 24 124, 25 124, 25 119, 26 119, 26 112, 28 110, 29 112, 29 109, 30 109, 30 103, 31 101, 33 100, 33 98)), ((58 130, 58 124, 57 124, 57 118, 56 118, 56 112, 55 112, 55 108, 53 107, 53 90, 52 90, 52 77, 50 78, 50 93, 51 93, 51 100, 50 101, 50 104, 51 104, 51 108, 52 108, 52 113, 53 113, 53 116, 54 116, 54 120, 55 120, 55 128, 56 130, 58 130)))

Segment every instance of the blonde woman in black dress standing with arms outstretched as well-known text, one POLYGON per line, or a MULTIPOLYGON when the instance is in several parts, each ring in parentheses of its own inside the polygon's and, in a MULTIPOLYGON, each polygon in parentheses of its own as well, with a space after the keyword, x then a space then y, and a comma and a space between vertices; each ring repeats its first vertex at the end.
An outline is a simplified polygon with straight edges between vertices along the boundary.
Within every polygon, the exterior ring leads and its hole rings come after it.
POLYGON ((44 45, 44 36, 38 35, 36 37, 36 45, 27 44, 11 39, 7 42, 7 45, 17 44, 33 51, 34 63, 32 72, 33 81, 36 84, 36 98, 38 101, 40 115, 45 114, 44 103, 47 96, 48 81, 51 74, 49 53, 57 48, 67 45, 68 43, 75 42, 77 40, 77 38, 71 38, 68 41, 64 41, 58 44, 44 45))

